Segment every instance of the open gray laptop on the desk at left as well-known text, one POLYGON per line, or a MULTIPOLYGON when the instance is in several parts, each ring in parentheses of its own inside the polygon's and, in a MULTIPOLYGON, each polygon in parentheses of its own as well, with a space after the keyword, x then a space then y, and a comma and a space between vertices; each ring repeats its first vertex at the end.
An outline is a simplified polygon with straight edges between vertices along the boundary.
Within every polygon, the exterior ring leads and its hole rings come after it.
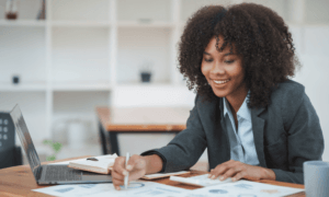
POLYGON ((19 134, 22 147, 27 157, 32 173, 38 185, 112 183, 111 175, 84 172, 60 164, 42 165, 19 105, 10 112, 10 116, 16 128, 16 132, 19 134))

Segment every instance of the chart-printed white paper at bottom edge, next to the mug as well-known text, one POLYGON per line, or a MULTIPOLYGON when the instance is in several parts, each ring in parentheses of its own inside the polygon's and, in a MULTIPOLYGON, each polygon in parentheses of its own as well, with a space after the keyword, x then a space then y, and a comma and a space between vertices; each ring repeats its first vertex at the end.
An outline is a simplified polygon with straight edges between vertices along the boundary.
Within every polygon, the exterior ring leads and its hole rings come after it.
POLYGON ((269 184, 262 184, 250 181, 238 181, 223 185, 214 185, 194 189, 189 193, 189 197, 213 197, 213 196, 229 196, 229 197, 281 197, 295 193, 300 193, 304 189, 283 187, 269 184))

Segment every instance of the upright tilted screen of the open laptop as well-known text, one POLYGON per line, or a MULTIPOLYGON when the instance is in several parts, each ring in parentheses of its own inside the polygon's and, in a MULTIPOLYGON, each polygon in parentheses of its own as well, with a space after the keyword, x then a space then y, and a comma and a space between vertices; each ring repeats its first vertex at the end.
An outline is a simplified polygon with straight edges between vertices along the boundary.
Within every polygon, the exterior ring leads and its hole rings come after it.
POLYGON ((11 111, 10 116, 15 125, 34 177, 37 179, 37 169, 41 166, 41 163, 19 105, 11 111))

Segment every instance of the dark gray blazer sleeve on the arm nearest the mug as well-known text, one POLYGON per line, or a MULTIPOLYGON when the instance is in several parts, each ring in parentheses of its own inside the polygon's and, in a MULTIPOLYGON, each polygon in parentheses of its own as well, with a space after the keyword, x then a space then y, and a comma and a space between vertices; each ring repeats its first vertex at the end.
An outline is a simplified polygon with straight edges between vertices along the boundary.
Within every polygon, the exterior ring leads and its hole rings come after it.
POLYGON ((276 181, 303 184, 303 163, 321 160, 324 136, 317 113, 305 92, 295 99, 285 100, 287 103, 282 109, 287 135, 288 171, 273 171, 276 181))

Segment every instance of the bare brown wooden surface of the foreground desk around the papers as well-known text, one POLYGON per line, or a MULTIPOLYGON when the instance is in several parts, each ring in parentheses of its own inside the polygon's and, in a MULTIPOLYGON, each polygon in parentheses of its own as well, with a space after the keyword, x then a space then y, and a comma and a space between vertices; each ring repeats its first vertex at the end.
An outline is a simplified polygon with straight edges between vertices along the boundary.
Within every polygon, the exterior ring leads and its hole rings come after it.
MULTIPOLYGON (((90 155, 72 158, 72 159, 81 159, 81 158, 89 158, 89 157, 90 155)), ((72 160, 72 159, 67 159, 67 160, 72 160)), ((66 161, 66 160, 59 160, 59 161, 66 161)), ((52 163, 52 162, 43 162, 43 164, 46 163, 52 163)), ((202 171, 191 171, 191 175, 185 175, 185 176, 193 176, 193 175, 200 175, 205 173, 206 172, 202 172, 202 171)), ((178 182, 172 182, 169 178, 161 178, 156 182, 166 185, 185 188, 185 189, 200 188, 195 186, 180 184, 178 182)), ((283 183, 283 182, 261 181, 261 183, 295 187, 295 188, 304 188, 304 185, 283 183)), ((20 166, 13 166, 13 167, 0 170, 0 196, 3 197, 48 196, 45 194, 35 193, 31 190, 35 188, 42 188, 42 187, 46 187, 46 186, 38 186, 35 183, 34 176, 29 165, 20 165, 20 166)), ((292 195, 291 197, 302 197, 302 196, 305 197, 305 194, 304 193, 296 194, 296 195, 292 195)))

